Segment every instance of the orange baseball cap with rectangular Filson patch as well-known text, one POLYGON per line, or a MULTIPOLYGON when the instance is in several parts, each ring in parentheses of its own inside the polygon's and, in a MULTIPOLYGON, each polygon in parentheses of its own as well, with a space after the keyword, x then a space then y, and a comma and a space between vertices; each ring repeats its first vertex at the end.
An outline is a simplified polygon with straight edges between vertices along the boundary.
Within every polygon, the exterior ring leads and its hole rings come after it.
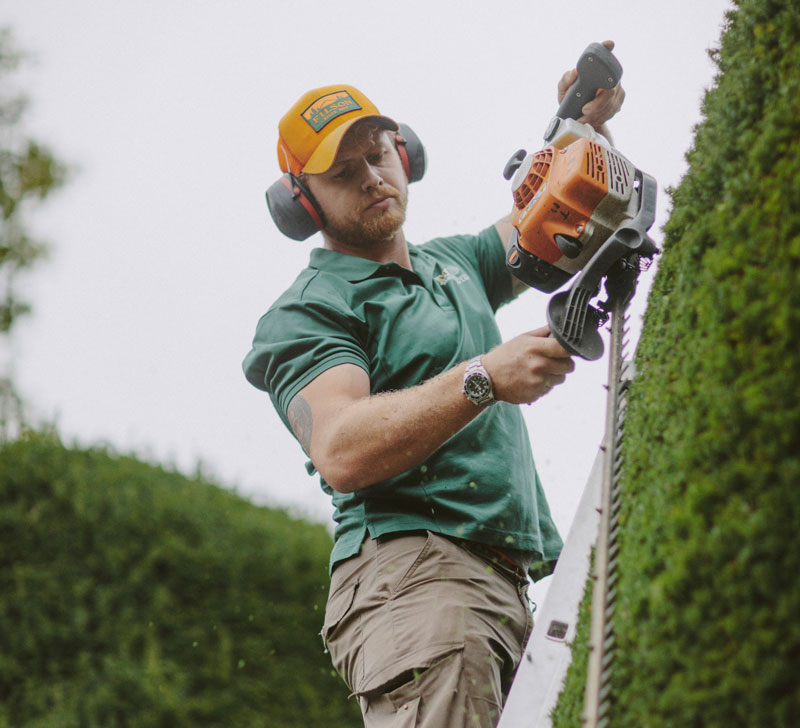
POLYGON ((333 164, 347 130, 375 119, 397 131, 397 123, 353 86, 323 86, 303 94, 278 124, 278 164, 284 172, 320 174, 333 164))

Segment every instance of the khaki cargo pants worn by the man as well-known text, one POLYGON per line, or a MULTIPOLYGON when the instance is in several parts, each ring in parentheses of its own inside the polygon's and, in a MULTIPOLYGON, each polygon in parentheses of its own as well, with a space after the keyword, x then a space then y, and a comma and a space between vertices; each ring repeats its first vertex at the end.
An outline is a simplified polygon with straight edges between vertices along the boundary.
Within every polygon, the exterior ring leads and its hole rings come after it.
POLYGON ((490 728, 533 626, 527 579, 430 532, 333 572, 323 640, 367 728, 490 728))

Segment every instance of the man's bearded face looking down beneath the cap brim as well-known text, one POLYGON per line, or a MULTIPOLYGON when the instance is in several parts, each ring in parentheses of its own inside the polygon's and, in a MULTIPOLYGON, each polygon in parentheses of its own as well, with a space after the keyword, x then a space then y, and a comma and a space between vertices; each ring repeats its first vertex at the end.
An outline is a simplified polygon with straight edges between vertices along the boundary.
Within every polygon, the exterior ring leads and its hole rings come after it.
POLYGON ((389 133, 356 124, 331 168, 306 177, 325 213, 325 235, 355 248, 370 248, 402 228, 408 182, 389 133))

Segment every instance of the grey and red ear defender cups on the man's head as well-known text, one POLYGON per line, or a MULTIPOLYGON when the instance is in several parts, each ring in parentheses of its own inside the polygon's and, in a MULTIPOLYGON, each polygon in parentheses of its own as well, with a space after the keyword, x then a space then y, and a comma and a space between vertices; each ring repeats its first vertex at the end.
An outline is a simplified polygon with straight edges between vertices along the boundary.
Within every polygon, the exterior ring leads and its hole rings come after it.
MULTIPOLYGON (((425 147, 406 124, 398 124, 395 148, 409 183, 425 175, 425 147)), ((325 227, 325 216, 308 188, 291 172, 286 172, 267 189, 267 207, 275 224, 292 240, 305 240, 325 227)))

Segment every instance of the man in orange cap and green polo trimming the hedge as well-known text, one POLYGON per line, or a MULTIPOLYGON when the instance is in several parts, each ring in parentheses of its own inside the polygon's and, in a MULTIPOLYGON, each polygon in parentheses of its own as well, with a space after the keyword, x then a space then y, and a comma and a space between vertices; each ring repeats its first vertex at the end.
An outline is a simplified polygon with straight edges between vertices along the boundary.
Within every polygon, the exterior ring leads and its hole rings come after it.
MULTIPOLYGON (((623 98, 601 93, 584 120, 599 128, 623 98)), ((501 341, 494 313, 523 288, 507 219, 406 241, 397 129, 346 85, 281 120, 281 169, 324 247, 262 317, 244 370, 332 496, 322 636, 365 725, 493 726, 532 627, 528 575, 561 546, 518 405, 574 364, 547 328, 501 341)))

